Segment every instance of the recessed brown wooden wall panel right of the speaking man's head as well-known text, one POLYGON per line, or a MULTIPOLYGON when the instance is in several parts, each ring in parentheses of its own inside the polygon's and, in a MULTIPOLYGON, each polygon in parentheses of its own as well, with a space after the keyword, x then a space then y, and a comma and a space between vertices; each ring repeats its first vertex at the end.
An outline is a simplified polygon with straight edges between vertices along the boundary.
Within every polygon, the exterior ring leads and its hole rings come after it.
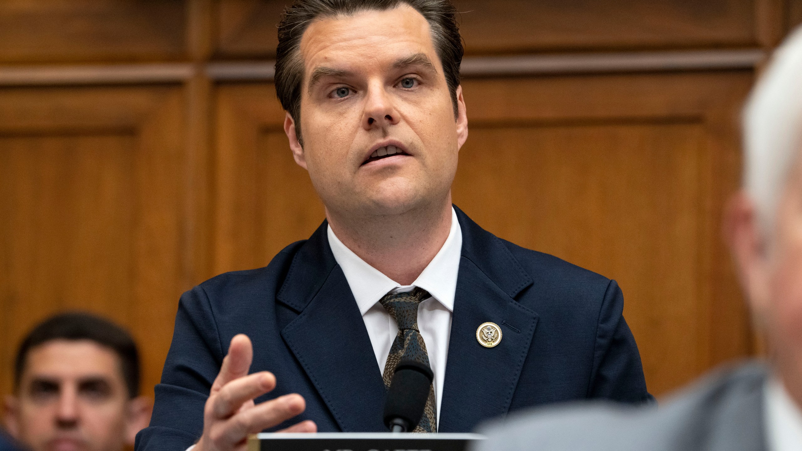
POLYGON ((703 136, 698 122, 660 120, 480 126, 454 185, 493 233, 618 280, 657 394, 707 367, 703 136))

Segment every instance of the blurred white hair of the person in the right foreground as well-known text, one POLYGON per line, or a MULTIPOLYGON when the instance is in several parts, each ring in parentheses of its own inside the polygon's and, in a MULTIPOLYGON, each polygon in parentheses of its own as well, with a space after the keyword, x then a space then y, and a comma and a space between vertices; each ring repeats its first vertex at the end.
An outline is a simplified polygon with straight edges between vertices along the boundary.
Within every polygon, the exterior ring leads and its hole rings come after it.
POLYGON ((743 110, 743 188, 764 233, 802 150, 802 27, 772 56, 743 110))

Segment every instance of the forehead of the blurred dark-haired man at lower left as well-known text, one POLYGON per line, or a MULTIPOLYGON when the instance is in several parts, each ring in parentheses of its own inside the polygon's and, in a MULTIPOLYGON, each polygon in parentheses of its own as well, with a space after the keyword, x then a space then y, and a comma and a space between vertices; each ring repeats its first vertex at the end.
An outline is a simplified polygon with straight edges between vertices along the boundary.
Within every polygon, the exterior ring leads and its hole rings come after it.
POLYGON ((91 340, 56 339, 30 348, 22 378, 33 376, 79 379, 106 376, 122 379, 114 351, 91 340))

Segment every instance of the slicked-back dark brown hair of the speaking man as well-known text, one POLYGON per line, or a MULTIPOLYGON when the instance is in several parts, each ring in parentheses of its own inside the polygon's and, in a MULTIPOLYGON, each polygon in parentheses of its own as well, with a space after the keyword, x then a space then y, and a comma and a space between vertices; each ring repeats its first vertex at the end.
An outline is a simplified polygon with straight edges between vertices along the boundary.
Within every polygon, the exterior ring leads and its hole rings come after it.
POLYGON ((301 137, 301 85, 304 67, 301 58, 301 37, 312 22, 320 18, 349 16, 368 10, 391 10, 408 5, 415 8, 429 23, 431 40, 452 95, 454 116, 457 114, 456 87, 460 86, 460 63, 464 49, 457 11, 448 0, 295 0, 282 15, 278 25, 276 49, 276 94, 282 107, 295 121, 295 131, 301 137))

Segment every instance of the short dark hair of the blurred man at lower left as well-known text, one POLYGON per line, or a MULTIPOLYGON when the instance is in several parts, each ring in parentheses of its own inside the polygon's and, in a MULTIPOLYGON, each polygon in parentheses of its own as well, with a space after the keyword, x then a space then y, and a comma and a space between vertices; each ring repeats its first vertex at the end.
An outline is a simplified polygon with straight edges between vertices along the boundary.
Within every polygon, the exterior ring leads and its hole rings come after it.
POLYGON ((108 347, 119 356, 119 368, 128 388, 128 396, 136 398, 140 392, 140 356, 134 339, 122 327, 99 316, 82 312, 68 312, 52 316, 28 332, 17 350, 14 361, 14 388, 19 388, 22 371, 30 349, 56 339, 88 339, 108 347))

